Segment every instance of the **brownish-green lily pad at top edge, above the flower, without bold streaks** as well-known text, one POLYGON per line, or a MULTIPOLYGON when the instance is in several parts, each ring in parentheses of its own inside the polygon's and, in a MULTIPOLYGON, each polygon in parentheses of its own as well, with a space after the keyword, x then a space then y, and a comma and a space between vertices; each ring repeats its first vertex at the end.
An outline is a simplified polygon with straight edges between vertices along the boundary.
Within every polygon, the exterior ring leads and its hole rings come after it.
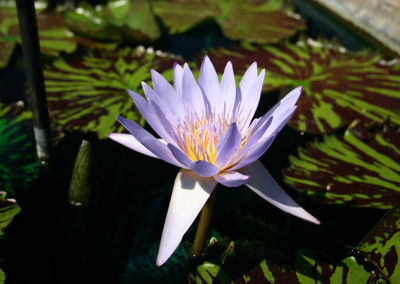
POLYGON ((288 1, 191 0, 154 1, 154 13, 173 34, 183 33, 213 19, 233 40, 276 43, 304 30, 288 1))

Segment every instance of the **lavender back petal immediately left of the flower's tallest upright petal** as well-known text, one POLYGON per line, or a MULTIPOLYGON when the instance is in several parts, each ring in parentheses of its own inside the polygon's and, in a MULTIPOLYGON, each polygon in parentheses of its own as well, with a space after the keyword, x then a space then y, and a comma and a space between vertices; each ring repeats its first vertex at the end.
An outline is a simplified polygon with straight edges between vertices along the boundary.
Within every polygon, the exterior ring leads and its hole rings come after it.
POLYGON ((201 117, 204 110, 203 93, 186 63, 183 67, 182 96, 186 111, 194 110, 201 117))

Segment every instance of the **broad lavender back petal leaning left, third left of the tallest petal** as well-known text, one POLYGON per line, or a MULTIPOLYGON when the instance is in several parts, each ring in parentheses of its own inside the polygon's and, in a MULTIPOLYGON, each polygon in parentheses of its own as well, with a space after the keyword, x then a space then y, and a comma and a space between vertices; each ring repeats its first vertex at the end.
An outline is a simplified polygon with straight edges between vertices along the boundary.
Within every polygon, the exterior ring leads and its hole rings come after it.
POLYGON ((151 78, 153 80, 154 91, 169 106, 169 109, 173 113, 183 114, 182 101, 170 83, 155 70, 151 70, 151 78))

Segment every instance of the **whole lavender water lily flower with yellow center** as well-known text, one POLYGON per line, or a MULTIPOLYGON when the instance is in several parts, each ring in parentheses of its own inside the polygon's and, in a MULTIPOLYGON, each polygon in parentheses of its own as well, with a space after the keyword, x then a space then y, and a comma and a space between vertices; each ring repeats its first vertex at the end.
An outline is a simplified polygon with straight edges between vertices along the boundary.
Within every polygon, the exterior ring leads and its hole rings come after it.
POLYGON ((265 153, 296 109, 298 87, 264 116, 253 119, 265 70, 254 62, 236 88, 231 62, 219 81, 205 56, 198 82, 188 65, 173 68, 171 86, 151 70, 153 87, 142 82, 146 99, 128 90, 156 138, 137 123, 117 116, 130 134, 111 133, 122 145, 182 168, 168 208, 156 264, 172 255, 217 183, 245 184, 279 209, 319 224, 278 185, 258 159, 265 153))

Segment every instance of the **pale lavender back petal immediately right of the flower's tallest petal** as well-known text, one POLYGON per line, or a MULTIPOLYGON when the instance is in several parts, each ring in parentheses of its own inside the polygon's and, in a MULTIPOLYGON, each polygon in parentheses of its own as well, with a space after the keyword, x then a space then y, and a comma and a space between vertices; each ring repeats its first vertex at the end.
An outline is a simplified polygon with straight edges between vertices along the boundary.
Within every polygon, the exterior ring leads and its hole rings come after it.
POLYGON ((236 97, 236 82, 231 62, 226 64, 219 90, 220 95, 215 100, 215 104, 211 105, 212 109, 217 113, 221 113, 224 106, 226 110, 231 110, 236 97))

